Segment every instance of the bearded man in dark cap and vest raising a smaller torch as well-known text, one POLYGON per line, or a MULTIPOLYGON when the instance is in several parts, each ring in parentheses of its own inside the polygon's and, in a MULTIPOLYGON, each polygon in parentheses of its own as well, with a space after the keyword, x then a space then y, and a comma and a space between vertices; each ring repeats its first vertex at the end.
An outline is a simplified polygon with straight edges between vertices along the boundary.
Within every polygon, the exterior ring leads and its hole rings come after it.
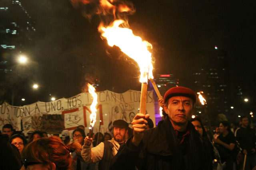
POLYGON ((84 139, 81 155, 84 161, 89 163, 99 162, 99 170, 109 170, 110 161, 118 152, 120 145, 125 143, 125 137, 128 133, 128 123, 124 120, 116 120, 113 122, 114 138, 109 141, 102 142, 98 146, 92 148, 92 138, 87 136, 84 139))

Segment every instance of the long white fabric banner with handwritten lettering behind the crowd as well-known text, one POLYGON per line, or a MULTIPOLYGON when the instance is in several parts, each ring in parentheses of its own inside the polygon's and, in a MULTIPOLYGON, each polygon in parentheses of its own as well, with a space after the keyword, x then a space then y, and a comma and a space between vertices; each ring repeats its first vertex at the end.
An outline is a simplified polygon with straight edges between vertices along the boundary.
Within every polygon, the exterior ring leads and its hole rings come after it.
MULTIPOLYGON (((112 133, 112 123, 115 120, 123 119, 129 123, 139 112, 140 108, 140 91, 129 90, 124 93, 114 93, 111 91, 97 92, 97 117, 94 125, 94 133, 99 131, 101 120, 101 133, 112 133)), ((147 94, 146 112, 155 124, 154 97, 153 91, 147 94)), ((36 102, 34 104, 17 107, 7 103, 0 106, 0 129, 10 123, 16 129, 21 130, 21 121, 23 133, 28 129, 34 128, 40 130, 41 119, 43 114, 64 114, 65 129, 74 130, 78 125, 88 127, 90 125, 90 105, 92 96, 89 93, 81 93, 72 98, 62 98, 52 102, 36 102)))

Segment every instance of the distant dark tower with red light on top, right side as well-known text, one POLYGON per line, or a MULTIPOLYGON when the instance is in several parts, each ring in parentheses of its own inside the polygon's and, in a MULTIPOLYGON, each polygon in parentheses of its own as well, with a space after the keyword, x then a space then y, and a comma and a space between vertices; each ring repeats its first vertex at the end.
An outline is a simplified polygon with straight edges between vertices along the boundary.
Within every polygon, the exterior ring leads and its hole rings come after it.
MULTIPOLYGON (((216 47, 212 51, 201 51, 196 63, 199 64, 193 73, 195 89, 204 92, 210 116, 213 118, 219 113, 228 115, 230 85, 226 51, 216 47)), ((198 107, 197 112, 203 113, 204 109, 198 107)))

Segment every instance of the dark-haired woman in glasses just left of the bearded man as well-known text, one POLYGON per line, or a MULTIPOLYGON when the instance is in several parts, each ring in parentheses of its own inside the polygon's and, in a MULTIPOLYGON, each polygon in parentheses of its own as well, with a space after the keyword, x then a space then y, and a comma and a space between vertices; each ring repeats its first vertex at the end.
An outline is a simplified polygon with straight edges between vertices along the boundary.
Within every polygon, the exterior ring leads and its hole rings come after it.
MULTIPOLYGON (((73 141, 79 143, 81 147, 84 145, 84 138, 86 137, 83 129, 75 129, 73 131, 73 141)), ((75 160, 73 164, 74 170, 85 170, 87 167, 92 169, 91 166, 95 166, 95 164, 86 164, 81 156, 81 150, 79 152, 73 152, 71 154, 72 159, 75 160)))

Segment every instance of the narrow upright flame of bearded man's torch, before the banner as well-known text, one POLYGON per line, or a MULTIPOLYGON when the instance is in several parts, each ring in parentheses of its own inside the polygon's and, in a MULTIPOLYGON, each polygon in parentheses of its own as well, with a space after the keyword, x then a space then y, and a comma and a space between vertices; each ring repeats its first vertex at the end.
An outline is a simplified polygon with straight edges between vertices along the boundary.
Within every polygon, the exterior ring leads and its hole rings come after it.
POLYGON ((92 94, 92 98, 93 98, 93 101, 92 101, 92 104, 90 106, 90 109, 92 111, 92 113, 90 114, 90 127, 89 129, 92 129, 93 126, 94 126, 94 123, 96 122, 96 105, 97 105, 97 93, 95 92, 95 88, 90 85, 89 83, 87 84, 88 85, 88 91, 90 94, 92 94))

